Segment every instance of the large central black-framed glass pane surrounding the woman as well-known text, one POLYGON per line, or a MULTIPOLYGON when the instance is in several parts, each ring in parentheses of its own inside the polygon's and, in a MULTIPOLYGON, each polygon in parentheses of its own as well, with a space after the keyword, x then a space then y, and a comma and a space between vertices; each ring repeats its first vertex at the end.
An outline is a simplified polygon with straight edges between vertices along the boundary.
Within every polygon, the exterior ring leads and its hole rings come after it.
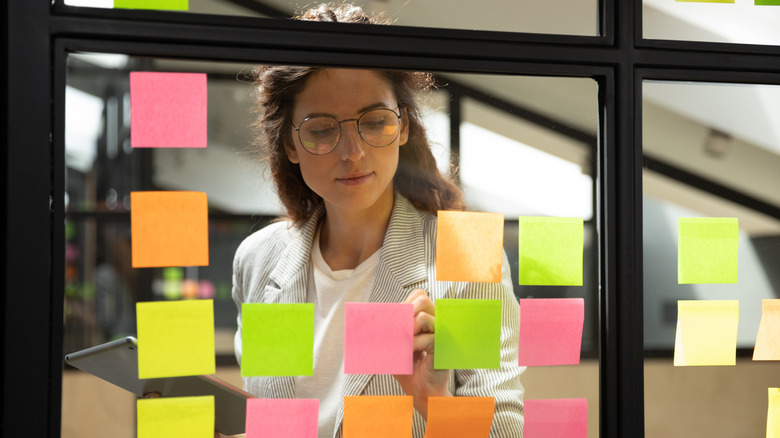
MULTIPOLYGON (((233 355, 233 255, 283 213, 251 145, 252 66, 73 53, 66 76, 64 351, 134 335, 135 303, 214 300, 218 376, 241 386, 233 355), (206 73, 206 148, 133 148, 129 74, 206 73), (131 193, 208 194, 209 266, 132 268, 131 193)), ((516 298, 582 298, 581 363, 532 367, 526 398, 584 398, 599 435, 598 240, 594 211, 598 89, 591 79, 436 75, 423 122, 438 167, 455 177, 467 210, 502 213, 516 298), (455 109, 457 105, 458 109, 455 109), (453 127, 456 127, 453 131, 453 127), (453 133, 455 135, 453 136, 453 133), (521 286, 518 218, 584 221, 582 286, 521 286)), ((134 397, 80 371, 63 376, 63 437, 131 437, 134 397), (105 403, 106 399, 112 400, 105 403)))

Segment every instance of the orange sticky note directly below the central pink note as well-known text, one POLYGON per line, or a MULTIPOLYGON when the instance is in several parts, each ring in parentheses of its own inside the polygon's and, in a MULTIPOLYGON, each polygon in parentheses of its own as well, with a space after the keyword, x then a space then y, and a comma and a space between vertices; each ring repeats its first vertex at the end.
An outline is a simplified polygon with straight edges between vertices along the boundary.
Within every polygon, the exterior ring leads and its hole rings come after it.
POLYGON ((412 396, 344 397, 344 438, 412 438, 412 396))

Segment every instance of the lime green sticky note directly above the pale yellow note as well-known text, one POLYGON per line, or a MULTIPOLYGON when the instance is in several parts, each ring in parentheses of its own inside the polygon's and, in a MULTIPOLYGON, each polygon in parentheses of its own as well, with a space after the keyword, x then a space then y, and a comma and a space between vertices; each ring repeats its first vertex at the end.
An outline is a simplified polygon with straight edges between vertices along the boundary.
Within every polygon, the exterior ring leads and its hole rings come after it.
POLYGON ((679 218, 678 231, 680 284, 737 282, 736 218, 679 218))

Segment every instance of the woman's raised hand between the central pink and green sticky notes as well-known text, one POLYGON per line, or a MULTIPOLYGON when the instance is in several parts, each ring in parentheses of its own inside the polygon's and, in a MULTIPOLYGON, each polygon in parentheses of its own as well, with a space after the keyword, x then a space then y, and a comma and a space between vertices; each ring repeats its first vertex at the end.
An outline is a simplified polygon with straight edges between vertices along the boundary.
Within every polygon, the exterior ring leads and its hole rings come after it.
POLYGON ((449 370, 433 369, 433 302, 422 289, 415 289, 404 300, 414 305, 414 365, 412 374, 395 375, 407 395, 414 396, 414 408, 428 417, 428 397, 451 396, 447 384, 449 370))

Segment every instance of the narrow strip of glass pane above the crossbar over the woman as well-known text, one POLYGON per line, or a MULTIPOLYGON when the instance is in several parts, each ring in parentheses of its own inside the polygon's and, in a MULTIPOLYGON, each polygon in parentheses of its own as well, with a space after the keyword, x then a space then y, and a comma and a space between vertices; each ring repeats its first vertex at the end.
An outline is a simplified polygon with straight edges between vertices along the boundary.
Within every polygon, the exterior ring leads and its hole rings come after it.
MULTIPOLYGON (((112 0, 64 0, 66 5, 112 8, 112 0)), ((506 32, 598 35, 598 0, 518 0, 452 2, 426 0, 356 1, 366 12, 381 13, 393 24, 506 32)), ((314 3, 290 0, 189 0, 191 13, 288 18, 314 3)))

